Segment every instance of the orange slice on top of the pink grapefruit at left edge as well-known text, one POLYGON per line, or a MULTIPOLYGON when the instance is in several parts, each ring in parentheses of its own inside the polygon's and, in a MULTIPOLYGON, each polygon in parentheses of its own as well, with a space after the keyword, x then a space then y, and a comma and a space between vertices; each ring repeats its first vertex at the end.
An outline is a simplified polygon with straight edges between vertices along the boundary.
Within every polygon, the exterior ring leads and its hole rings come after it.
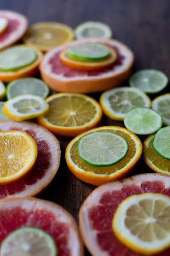
POLYGON ((0 131, 0 185, 25 176, 37 159, 34 139, 23 131, 0 131))

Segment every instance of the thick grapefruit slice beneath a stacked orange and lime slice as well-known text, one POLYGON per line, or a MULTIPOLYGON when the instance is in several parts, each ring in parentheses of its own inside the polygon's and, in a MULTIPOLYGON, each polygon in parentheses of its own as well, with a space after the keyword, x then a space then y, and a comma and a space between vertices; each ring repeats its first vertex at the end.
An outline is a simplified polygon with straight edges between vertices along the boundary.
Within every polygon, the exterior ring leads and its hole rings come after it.
POLYGON ((68 93, 93 93, 115 87, 125 81, 132 71, 133 52, 116 40, 88 38, 57 47, 45 54, 40 64, 42 79, 53 89, 68 93), (65 49, 80 45, 105 44, 116 51, 117 60, 99 70, 74 70, 65 66, 59 54, 65 49), (81 85, 81 86, 80 86, 81 85))

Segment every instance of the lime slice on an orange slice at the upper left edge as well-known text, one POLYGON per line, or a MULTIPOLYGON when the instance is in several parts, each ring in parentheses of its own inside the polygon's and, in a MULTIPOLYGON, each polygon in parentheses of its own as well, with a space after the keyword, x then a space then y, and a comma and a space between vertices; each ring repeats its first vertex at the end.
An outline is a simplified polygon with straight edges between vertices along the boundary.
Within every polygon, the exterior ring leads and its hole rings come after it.
POLYGON ((11 47, 0 52, 0 70, 12 71, 26 67, 37 58, 37 53, 28 47, 11 47))

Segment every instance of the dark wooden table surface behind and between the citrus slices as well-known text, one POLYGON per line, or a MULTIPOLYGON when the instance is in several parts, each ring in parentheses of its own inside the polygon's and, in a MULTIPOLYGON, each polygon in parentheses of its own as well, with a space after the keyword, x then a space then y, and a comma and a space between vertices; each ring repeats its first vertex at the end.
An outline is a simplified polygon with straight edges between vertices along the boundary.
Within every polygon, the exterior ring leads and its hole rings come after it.
MULTIPOLYGON (((170 77, 169 0, 0 0, 0 9, 21 12, 28 17, 30 24, 57 21, 74 28, 85 20, 108 23, 114 38, 133 50, 136 70, 154 68, 170 77)), ((164 92, 167 91, 170 91, 169 86, 164 92)), ((99 99, 99 95, 91 96, 99 99)), ((123 123, 104 117, 102 125, 123 126, 123 123)), ((62 151, 60 167, 40 198, 60 204, 78 221, 79 208, 95 186, 78 180, 68 170, 65 148, 71 138, 60 137, 58 140, 62 151)), ((133 174, 142 172, 151 172, 143 160, 133 174)))

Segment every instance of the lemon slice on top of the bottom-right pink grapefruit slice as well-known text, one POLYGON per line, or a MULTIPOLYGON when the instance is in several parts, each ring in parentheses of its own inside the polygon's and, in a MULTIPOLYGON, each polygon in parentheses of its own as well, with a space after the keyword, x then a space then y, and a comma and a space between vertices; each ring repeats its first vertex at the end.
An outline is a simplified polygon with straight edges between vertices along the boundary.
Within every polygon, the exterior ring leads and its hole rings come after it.
POLYGON ((112 222, 119 241, 142 255, 170 247, 170 197, 156 193, 133 195, 117 208, 112 222))

